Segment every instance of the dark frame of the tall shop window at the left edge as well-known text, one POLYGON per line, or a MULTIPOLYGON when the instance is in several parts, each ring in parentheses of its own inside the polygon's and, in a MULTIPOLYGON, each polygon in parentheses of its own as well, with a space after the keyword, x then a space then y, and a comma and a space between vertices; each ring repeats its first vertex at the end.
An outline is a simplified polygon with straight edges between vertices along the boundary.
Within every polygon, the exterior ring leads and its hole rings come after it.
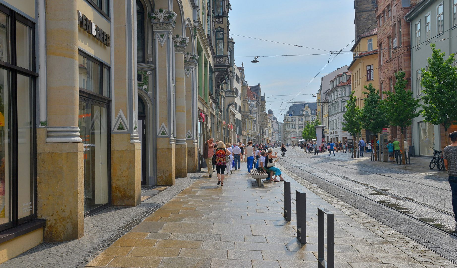
MULTIPOLYGON (((18 225, 30 222, 32 220, 37 219, 37 143, 36 143, 36 77, 38 74, 35 72, 36 70, 36 51, 35 51, 35 23, 32 21, 27 20, 24 16, 21 16, 20 14, 16 13, 16 11, 10 10, 9 8, 5 7, 4 5, 0 5, 0 11, 5 13, 7 16, 9 16, 9 22, 10 22, 10 32, 9 32, 9 38, 11 41, 10 45, 10 51, 9 51, 9 62, 5 61, 0 61, 0 67, 2 69, 8 70, 10 72, 10 87, 9 87, 9 92, 8 92, 8 102, 9 102, 9 109, 8 109, 8 117, 10 118, 10 137, 11 137, 11 142, 8 145, 9 150, 10 150, 10 157, 11 161, 9 164, 9 177, 6 178, 5 180, 8 180, 10 183, 10 188, 8 189, 9 193, 9 203, 11 209, 11 221, 0 225, 0 231, 10 229, 13 227, 16 227, 18 225), (32 70, 28 70, 19 66, 16 66, 16 21, 21 22, 24 25, 27 25, 28 27, 32 28, 32 70), (18 208, 19 208, 19 200, 18 200, 18 144, 17 144, 17 139, 18 139, 18 129, 17 129, 17 75, 23 75, 29 78, 32 78, 32 89, 30 92, 30 98, 31 98, 31 152, 32 152, 32 161, 31 161, 31 178, 32 178, 32 188, 33 188, 33 212, 31 215, 23 217, 21 219, 18 219, 18 208), (16 178, 16 179, 13 179, 16 178)), ((5 207, 6 209, 6 207, 5 207)), ((0 233, 1 234, 1 233, 0 233)))

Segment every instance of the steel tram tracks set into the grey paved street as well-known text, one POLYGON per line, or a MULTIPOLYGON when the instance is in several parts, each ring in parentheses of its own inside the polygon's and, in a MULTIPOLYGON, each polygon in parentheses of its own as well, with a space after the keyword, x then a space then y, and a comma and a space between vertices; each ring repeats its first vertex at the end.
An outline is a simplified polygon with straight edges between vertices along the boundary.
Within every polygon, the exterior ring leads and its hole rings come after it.
MULTIPOLYGON (((290 151, 288 151, 288 152, 290 152, 290 151)), ((292 152, 291 152, 291 153, 292 153, 292 152)), ((296 154, 296 153, 292 153, 292 154, 293 154, 293 155, 298 155, 298 154, 296 154)), ((303 155, 298 155, 298 156, 305 157, 305 156, 303 156, 303 155)), ((391 197, 393 197, 393 198, 398 198, 398 199, 401 199, 401 200, 403 200, 403 201, 405 201, 405 202, 410 202, 410 203, 412 203, 412 204, 415 204, 415 205, 418 205, 418 206, 421 206, 421 207, 424 207, 424 208, 427 208, 427 209, 431 209, 431 210, 435 211, 435 213, 444 214, 444 215, 446 215, 447 217, 452 217, 452 218, 454 217, 454 214, 451 213, 451 212, 449 212, 449 211, 446 211, 446 210, 443 210, 443 209, 439 209, 439 208, 436 208, 436 207, 431 206, 431 205, 428 205, 428 204, 423 204, 423 203, 421 203, 421 202, 417 202, 417 201, 411 200, 410 198, 405 198, 405 197, 403 197, 403 196, 399 196, 399 195, 396 195, 396 194, 393 194, 393 193, 389 193, 388 191, 385 191, 385 190, 382 190, 382 189, 379 189, 379 188, 376 188, 376 187, 368 186, 367 184, 364 184, 364 183, 361 183, 361 182, 357 182, 357 181, 351 180, 351 179, 349 179, 348 177, 345 177, 345 176, 340 176, 340 175, 337 175, 337 174, 335 174, 335 173, 331 173, 331 172, 329 172, 329 171, 321 170, 321 169, 316 168, 316 167, 314 167, 314 166, 310 166, 310 165, 305 164, 305 163, 303 163, 303 162, 297 161, 297 160, 293 159, 293 158, 290 157, 290 156, 285 156, 285 159, 290 160, 290 161, 297 162, 297 163, 299 163, 300 165, 307 166, 307 167, 312 168, 312 169, 314 169, 314 170, 317 170, 317 171, 319 171, 319 172, 324 172, 324 173, 329 174, 329 175, 331 175, 331 176, 338 177, 338 178, 343 179, 343 180, 345 180, 345 181, 355 183, 356 185, 360 185, 360 186, 363 186, 363 187, 365 187, 365 188, 371 189, 372 191, 375 191, 375 192, 378 192, 378 193, 382 193, 382 194, 384 194, 384 195, 388 195, 388 196, 391 196, 391 197)), ((284 161, 284 162, 287 163, 288 165, 291 165, 291 166, 293 166, 293 167, 299 169, 300 171, 303 171, 303 172, 306 172, 306 173, 308 173, 308 174, 311 174, 312 176, 318 177, 319 179, 321 179, 321 180, 323 180, 323 181, 325 181, 325 182, 328 182, 328 183, 330 183, 330 184, 332 184, 332 185, 335 185, 335 186, 337 186, 337 187, 339 187, 339 188, 343 188, 343 189, 345 189, 345 190, 348 191, 348 192, 354 193, 354 194, 356 194, 356 195, 358 195, 358 196, 361 196, 361 197, 363 197, 363 198, 366 198, 366 199, 368 199, 368 200, 370 200, 370 201, 372 201, 372 202, 375 202, 375 203, 377 203, 377 204, 380 204, 380 205, 382 205, 382 206, 384 206, 384 207, 388 207, 389 209, 393 209, 393 210, 395 210, 395 211, 397 211, 397 212, 399 212, 399 213, 401 213, 401 214, 404 214, 404 215, 406 215, 406 216, 408 216, 408 217, 410 217, 410 218, 412 218, 412 219, 414 219, 414 220, 418 220, 418 221, 420 221, 420 222, 422 222, 422 223, 424 223, 424 224, 426 224, 426 225, 429 225, 429 226, 431 226, 431 227, 433 227, 433 228, 436 228, 436 229, 438 229, 438 230, 440 230, 440 231, 442 231, 442 232, 445 232, 446 234, 449 234, 449 235, 452 235, 452 236, 454 236, 454 237, 457 237, 456 230, 446 230, 446 229, 440 228, 439 226, 434 225, 434 224, 431 224, 430 222, 427 222, 427 221, 422 220, 422 219, 420 219, 420 218, 414 217, 414 216, 411 215, 410 213, 406 213, 406 212, 401 211, 401 210, 399 210, 399 209, 395 209, 394 207, 389 206, 388 204, 385 204, 384 202, 380 202, 380 201, 375 200, 375 199, 373 199, 373 198, 369 198, 369 197, 367 197, 365 194, 357 193, 357 192, 354 191, 354 190, 351 190, 351 189, 349 189, 349 188, 346 188, 346 187, 344 187, 344 186, 342 186, 342 185, 340 185, 340 184, 338 184, 338 183, 332 182, 332 181, 330 181, 329 179, 326 179, 326 178, 324 178, 324 177, 322 177, 322 176, 319 176, 318 174, 315 174, 315 173, 313 173, 313 172, 309 172, 309 171, 307 171, 307 170, 304 170, 303 168, 301 168, 301 167, 299 167, 299 166, 295 166, 295 165, 293 165, 292 163, 289 163, 288 161, 286 161, 285 159, 284 159, 284 158, 281 158, 282 161, 284 161)), ((317 160, 317 159, 313 159, 313 160, 317 160)), ((321 161, 321 160, 317 160, 317 161, 325 162, 325 161, 321 161)), ((325 163, 329 163, 329 162, 325 162, 325 163)), ((330 164, 333 164, 333 163, 330 163, 330 164)), ((333 164, 333 165, 335 165, 335 164, 333 164)), ((361 170, 357 170, 357 169, 354 169, 354 168, 351 168, 351 167, 346 167, 346 166, 340 166, 340 165, 335 165, 335 166, 338 166, 338 167, 340 167, 340 168, 349 168, 349 169, 353 169, 353 170, 356 170, 356 171, 358 171, 358 172, 366 172, 366 171, 361 171, 361 170)), ((377 173, 375 173, 375 172, 366 172, 366 173, 377 174, 377 173)), ((296 174, 296 175, 300 176, 300 174, 296 174)), ((383 176, 382 174, 377 174, 377 175, 383 176)), ((385 176, 385 175, 384 175, 384 176, 385 176)), ((386 176, 386 177, 389 177, 389 176, 386 176)), ((390 178, 398 179, 398 178, 395 178, 395 177, 390 177, 390 178)), ((306 179, 306 178, 303 177, 303 179, 306 179)), ((402 180, 402 179, 399 179, 399 180, 402 180)), ((406 180, 404 180, 404 181, 406 181, 406 180)), ((406 182, 410 182, 410 181, 406 181, 406 182)), ((413 182, 413 183, 414 183, 414 182, 413 182)), ((434 187, 434 186, 430 186, 430 185, 426 185, 426 184, 422 184, 422 183, 417 183, 417 184, 421 184, 421 185, 423 185, 423 186, 429 186, 429 187, 432 187, 432 188, 438 188, 438 189, 441 189, 441 190, 447 190, 447 189, 443 189, 443 188, 439 188, 439 187, 434 187)))

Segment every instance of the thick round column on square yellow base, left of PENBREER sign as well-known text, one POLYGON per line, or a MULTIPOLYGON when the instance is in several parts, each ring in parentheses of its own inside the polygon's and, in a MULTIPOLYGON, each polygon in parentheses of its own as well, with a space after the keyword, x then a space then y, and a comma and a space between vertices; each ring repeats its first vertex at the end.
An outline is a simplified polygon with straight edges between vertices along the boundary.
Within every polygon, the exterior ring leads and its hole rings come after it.
POLYGON ((37 129, 37 217, 43 241, 78 239, 84 226, 78 127, 78 21, 74 0, 47 0, 47 129, 37 129))

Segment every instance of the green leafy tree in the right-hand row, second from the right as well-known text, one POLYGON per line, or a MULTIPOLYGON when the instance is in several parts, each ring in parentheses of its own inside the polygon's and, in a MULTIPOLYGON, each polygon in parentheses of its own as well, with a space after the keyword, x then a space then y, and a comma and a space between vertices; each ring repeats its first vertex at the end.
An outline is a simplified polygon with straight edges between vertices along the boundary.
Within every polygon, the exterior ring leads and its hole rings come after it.
MULTIPOLYGON (((413 123, 413 119, 419 116, 416 110, 420 107, 419 99, 413 97, 413 91, 406 90, 408 80, 404 79, 404 72, 395 74, 394 92, 385 91, 387 98, 384 100, 386 115, 392 126, 400 127, 400 148, 404 151, 404 130, 413 123)), ((403 157, 405 164, 405 157, 403 157)))

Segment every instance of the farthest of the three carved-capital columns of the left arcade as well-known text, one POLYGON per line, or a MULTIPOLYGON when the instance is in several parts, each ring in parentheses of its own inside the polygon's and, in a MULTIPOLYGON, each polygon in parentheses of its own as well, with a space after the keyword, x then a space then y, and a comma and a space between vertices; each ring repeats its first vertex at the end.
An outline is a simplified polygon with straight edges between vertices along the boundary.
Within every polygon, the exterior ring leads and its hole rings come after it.
MULTIPOLYGON (((186 52, 184 55, 186 70, 186 141, 187 141, 187 172, 197 172, 197 64, 198 55, 186 52)), ((208 118, 209 119, 209 118, 208 118)))

